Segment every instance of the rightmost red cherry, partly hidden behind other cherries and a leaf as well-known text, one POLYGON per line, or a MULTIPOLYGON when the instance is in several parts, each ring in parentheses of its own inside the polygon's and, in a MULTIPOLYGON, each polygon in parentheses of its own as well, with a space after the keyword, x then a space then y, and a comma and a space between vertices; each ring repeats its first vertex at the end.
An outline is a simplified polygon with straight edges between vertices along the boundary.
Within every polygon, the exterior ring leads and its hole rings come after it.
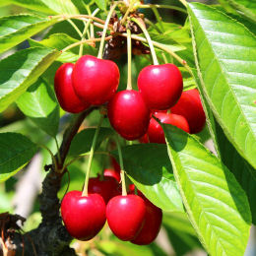
POLYGON ((206 115, 197 89, 183 92, 170 111, 187 119, 190 133, 199 133, 205 127, 206 115))

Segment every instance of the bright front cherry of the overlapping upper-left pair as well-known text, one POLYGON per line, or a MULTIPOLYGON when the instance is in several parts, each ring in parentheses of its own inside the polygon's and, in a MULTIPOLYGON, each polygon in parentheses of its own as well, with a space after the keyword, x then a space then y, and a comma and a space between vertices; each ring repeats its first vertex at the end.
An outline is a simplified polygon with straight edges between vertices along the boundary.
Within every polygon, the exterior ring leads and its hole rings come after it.
POLYGON ((75 64, 72 80, 80 98, 94 105, 107 102, 119 84, 119 69, 111 60, 84 55, 75 64))

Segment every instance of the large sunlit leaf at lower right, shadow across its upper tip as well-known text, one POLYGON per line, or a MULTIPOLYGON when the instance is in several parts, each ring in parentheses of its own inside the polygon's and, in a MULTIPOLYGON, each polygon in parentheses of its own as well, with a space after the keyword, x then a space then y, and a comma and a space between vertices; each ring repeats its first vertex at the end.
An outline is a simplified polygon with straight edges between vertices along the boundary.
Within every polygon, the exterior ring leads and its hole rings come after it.
POLYGON ((162 125, 191 224, 210 255, 243 255, 251 224, 247 197, 226 166, 193 136, 162 125))

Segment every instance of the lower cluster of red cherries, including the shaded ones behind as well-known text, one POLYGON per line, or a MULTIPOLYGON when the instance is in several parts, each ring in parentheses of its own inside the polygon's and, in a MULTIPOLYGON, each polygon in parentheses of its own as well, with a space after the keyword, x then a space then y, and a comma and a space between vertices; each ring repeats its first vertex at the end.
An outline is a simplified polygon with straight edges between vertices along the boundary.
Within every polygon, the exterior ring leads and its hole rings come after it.
POLYGON ((155 240, 160 231, 162 212, 134 185, 122 196, 119 187, 120 167, 105 169, 104 177, 90 178, 89 195, 71 191, 61 203, 61 215, 69 233, 80 240, 92 239, 107 223, 121 240, 145 245, 155 240))

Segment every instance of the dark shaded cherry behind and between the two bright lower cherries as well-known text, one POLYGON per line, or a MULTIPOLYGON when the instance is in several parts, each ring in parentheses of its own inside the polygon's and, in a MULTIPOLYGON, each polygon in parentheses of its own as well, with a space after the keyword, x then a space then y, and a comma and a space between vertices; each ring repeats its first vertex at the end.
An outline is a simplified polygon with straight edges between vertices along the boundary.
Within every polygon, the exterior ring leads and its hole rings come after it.
POLYGON ((89 179, 89 193, 99 194, 103 198, 105 204, 107 204, 112 197, 119 195, 118 188, 119 184, 113 177, 105 176, 100 180, 100 177, 98 176, 89 179))

